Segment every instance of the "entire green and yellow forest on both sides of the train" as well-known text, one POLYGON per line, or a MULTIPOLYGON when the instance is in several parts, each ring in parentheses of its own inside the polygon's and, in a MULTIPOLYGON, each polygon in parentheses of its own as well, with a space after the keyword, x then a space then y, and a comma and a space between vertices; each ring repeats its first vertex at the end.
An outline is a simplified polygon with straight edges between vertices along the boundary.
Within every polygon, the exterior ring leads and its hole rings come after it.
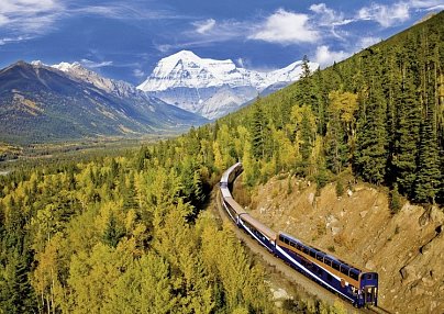
POLYGON ((0 313, 276 313, 264 268, 203 210, 237 160, 247 187, 291 173, 321 189, 347 172, 442 205, 443 25, 440 13, 325 70, 306 67, 177 138, 0 176, 0 313))

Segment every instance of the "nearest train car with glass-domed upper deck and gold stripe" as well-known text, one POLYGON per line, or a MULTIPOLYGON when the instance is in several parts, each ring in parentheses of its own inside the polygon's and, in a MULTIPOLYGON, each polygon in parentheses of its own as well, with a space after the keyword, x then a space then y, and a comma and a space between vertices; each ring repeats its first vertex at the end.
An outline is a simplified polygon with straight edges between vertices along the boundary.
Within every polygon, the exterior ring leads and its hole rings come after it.
POLYGON ((293 268, 348 300, 357 307, 377 305, 378 274, 364 271, 322 250, 279 233, 276 254, 293 268))

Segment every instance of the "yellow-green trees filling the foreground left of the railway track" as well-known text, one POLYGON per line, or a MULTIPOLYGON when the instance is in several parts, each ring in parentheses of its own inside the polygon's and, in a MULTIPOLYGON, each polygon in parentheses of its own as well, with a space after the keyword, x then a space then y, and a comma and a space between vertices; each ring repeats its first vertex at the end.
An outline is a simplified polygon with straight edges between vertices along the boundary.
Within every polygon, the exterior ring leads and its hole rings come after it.
POLYGON ((0 178, 1 313, 271 312, 263 269, 197 217, 198 162, 138 157, 0 178))

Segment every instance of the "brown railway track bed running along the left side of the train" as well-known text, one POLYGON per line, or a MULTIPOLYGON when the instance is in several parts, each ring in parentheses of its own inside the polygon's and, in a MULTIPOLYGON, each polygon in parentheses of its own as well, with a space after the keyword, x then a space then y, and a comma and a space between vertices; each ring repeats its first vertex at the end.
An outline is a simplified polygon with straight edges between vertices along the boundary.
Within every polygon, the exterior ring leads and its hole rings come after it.
POLYGON ((212 193, 212 202, 214 203, 214 212, 218 216, 230 225, 230 228, 235 233, 236 237, 242 240, 242 243, 249 248, 252 253, 256 256, 259 256, 264 265, 268 268, 281 273, 284 278, 291 282, 292 284, 297 284, 298 288, 303 289, 308 294, 314 295, 320 300, 324 301, 329 305, 334 305, 335 302, 341 302, 343 307, 347 311, 347 313, 378 313, 378 314, 386 314, 390 313, 381 307, 378 306, 370 306, 370 307, 363 307, 356 309, 351 303, 344 301, 343 299, 338 298, 332 291, 321 287, 317 282, 310 280, 304 274, 298 272, 289 265, 287 265, 281 259, 275 257, 274 255, 269 254, 263 246, 260 246, 255 239, 253 239, 249 235, 244 233, 242 229, 237 228, 232 221, 229 218, 226 212, 223 210, 220 197, 219 197, 219 189, 214 189, 212 193))

